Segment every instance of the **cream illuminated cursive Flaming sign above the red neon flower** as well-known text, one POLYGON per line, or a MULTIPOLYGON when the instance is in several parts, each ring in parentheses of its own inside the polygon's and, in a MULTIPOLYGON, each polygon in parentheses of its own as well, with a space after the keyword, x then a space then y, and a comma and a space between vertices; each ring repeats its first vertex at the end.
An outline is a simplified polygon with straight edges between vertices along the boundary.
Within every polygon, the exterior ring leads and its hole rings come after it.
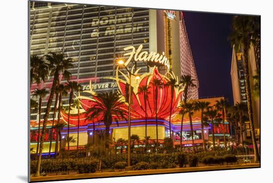
POLYGON ((125 66, 127 66, 130 63, 130 61, 133 59, 133 57, 135 56, 134 57, 135 61, 158 62, 158 63, 161 63, 162 65, 165 65, 168 71, 170 70, 170 61, 165 57, 164 52, 162 52, 161 55, 159 55, 156 52, 150 52, 150 53, 146 51, 141 52, 142 48, 143 48, 143 45, 139 45, 137 50, 134 46, 129 46, 124 48, 125 51, 130 51, 124 54, 124 56, 129 56, 129 59, 124 63, 125 66))

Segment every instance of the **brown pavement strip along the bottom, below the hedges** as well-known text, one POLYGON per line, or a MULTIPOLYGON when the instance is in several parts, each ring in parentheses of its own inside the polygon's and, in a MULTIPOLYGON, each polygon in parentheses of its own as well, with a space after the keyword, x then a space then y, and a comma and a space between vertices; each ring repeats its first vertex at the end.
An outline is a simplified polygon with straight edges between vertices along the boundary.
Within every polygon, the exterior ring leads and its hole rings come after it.
POLYGON ((223 165, 223 166, 206 166, 206 167, 187 167, 174 169, 157 169, 157 170, 137 170, 137 171, 123 171, 123 172, 103 172, 92 174, 74 174, 74 175, 59 175, 59 176, 45 176, 45 177, 31 177, 31 182, 43 181, 61 181, 73 179, 92 179, 92 178, 109 178, 133 175, 153 175, 153 174, 168 174, 168 173, 183 173, 183 172, 198 172, 198 171, 212 171, 212 170, 232 170, 232 169, 247 169, 259 168, 260 163, 239 164, 239 165, 223 165))

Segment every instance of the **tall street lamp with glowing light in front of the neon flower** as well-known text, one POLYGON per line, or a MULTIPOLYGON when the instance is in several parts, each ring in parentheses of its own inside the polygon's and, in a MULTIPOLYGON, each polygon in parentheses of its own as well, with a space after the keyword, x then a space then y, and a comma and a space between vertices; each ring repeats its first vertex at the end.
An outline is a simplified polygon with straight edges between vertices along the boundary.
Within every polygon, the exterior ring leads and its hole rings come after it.
MULTIPOLYGON (((120 59, 118 61, 119 65, 122 65, 126 68, 126 70, 128 71, 129 73, 129 100, 128 100, 128 105, 129 105, 129 119, 128 119, 128 167, 131 167, 131 78, 132 78, 132 75, 135 76, 136 79, 140 79, 140 77, 133 72, 130 72, 129 68, 127 66, 124 65, 124 61, 122 59, 120 59)), ((136 65, 136 63, 134 63, 134 65, 136 65)))

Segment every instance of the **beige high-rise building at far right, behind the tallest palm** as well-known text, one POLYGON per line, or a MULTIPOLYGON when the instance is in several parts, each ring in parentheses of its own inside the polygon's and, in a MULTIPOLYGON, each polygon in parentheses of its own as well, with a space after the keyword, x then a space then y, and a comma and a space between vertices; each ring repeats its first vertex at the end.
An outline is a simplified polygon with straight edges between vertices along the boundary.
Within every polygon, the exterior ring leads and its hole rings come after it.
MULTIPOLYGON (((257 69, 260 66, 260 43, 256 47, 253 45, 249 49, 249 74, 250 74, 250 89, 252 92, 252 109, 253 109, 253 121, 255 127, 256 138, 260 137, 260 97, 254 95, 254 85, 255 80, 253 76, 257 74, 257 69)), ((246 95, 246 81, 245 81, 245 72, 243 66, 243 53, 236 52, 233 47, 232 51, 232 61, 231 61, 231 81, 232 81, 232 91, 233 91, 233 102, 234 105, 240 102, 247 103, 246 95)), ((250 138, 250 125, 249 122, 246 122, 246 136, 250 138)))

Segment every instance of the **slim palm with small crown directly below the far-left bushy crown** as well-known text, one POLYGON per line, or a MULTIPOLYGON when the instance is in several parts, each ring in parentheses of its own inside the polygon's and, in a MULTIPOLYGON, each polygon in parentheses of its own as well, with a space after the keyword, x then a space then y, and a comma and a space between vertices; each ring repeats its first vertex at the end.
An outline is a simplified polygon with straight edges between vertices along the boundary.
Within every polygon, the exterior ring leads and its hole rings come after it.
POLYGON ((37 149, 36 149, 36 155, 38 156, 38 149, 39 149, 39 143, 40 143, 40 127, 41 127, 41 112, 42 112, 42 100, 43 98, 48 94, 49 92, 47 91, 47 89, 43 88, 43 89, 36 89, 34 90, 32 97, 36 97, 39 98, 39 107, 38 107, 38 114, 39 114, 39 118, 38 118, 38 122, 39 122, 39 126, 38 126, 38 140, 37 140, 37 149))

